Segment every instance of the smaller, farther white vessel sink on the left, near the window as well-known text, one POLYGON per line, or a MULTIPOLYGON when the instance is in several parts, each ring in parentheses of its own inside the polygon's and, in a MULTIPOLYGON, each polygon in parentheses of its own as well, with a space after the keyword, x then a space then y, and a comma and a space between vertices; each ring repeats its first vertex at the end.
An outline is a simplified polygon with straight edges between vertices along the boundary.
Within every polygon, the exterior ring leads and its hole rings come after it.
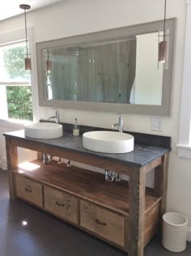
POLYGON ((33 139, 55 139, 62 137, 62 125, 51 122, 36 122, 25 125, 25 136, 33 139))

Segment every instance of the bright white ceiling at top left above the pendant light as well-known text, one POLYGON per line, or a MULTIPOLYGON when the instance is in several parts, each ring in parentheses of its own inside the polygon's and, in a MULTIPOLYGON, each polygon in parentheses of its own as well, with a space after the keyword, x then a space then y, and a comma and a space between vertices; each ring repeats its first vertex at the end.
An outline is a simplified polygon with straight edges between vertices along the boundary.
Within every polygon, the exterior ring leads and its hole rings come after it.
POLYGON ((22 14, 23 10, 19 8, 20 4, 28 4, 31 6, 31 10, 35 10, 61 1, 63 0, 2 0, 0 1, 0 21, 22 14))

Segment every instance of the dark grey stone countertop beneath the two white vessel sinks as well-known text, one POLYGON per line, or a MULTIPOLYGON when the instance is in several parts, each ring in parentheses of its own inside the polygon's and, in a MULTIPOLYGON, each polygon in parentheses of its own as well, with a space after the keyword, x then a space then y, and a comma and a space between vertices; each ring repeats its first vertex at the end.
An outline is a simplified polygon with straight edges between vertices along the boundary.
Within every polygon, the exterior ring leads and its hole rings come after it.
POLYGON ((83 148, 83 136, 73 136, 71 132, 64 131, 64 135, 57 139, 31 139, 26 138, 24 130, 16 130, 4 134, 5 136, 15 137, 17 139, 24 139, 27 141, 37 142, 44 145, 53 147, 60 147, 71 151, 77 151, 87 156, 96 156, 99 158, 109 159, 115 162, 128 165, 137 165, 139 167, 149 164, 151 161, 163 156, 165 153, 170 151, 170 148, 150 146, 141 143, 134 144, 134 151, 124 154, 106 154, 89 151, 83 148))

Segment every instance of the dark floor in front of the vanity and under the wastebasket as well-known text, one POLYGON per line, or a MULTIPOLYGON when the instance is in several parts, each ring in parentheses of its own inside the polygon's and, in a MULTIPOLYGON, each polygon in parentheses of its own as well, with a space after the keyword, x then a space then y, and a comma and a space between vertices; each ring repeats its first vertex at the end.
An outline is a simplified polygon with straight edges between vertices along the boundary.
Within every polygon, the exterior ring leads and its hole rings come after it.
MULTIPOLYGON (((0 170, 0 256, 127 256, 123 251, 19 200, 10 201, 7 172, 0 170), (23 226, 23 220, 28 225, 23 226)), ((190 256, 165 250, 155 237, 145 256, 190 256)))

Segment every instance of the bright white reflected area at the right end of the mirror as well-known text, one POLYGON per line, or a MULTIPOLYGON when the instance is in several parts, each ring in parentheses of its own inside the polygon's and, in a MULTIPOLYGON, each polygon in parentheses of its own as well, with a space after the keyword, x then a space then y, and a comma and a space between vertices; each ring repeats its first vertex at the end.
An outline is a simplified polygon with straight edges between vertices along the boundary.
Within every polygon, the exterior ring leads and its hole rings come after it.
POLYGON ((132 100, 138 105, 161 105, 163 64, 158 63, 158 33, 138 35, 136 77, 132 100))

